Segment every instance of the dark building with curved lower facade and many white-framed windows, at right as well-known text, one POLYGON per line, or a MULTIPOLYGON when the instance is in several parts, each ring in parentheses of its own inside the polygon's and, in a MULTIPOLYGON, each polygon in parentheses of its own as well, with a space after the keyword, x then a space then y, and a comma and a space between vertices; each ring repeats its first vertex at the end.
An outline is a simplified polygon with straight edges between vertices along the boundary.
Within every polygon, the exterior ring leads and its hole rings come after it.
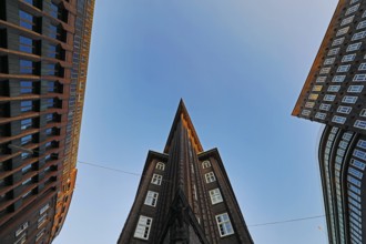
POLYGON ((293 115, 325 124, 318 160, 329 243, 366 243, 366 1, 340 0, 293 115))

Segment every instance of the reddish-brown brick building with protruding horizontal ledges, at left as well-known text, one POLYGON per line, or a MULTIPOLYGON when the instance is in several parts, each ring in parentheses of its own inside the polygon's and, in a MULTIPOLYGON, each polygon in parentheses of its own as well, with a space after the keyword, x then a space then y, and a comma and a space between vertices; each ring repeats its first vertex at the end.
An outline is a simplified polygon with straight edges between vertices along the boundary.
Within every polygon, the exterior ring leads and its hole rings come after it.
POLYGON ((51 243, 77 177, 94 0, 0 0, 0 243, 51 243))

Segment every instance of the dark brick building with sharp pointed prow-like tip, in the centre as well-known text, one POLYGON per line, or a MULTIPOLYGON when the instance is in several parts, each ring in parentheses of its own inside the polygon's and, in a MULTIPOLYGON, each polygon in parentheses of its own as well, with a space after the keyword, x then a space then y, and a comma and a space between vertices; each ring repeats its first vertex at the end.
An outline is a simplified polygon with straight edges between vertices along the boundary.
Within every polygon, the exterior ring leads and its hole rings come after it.
POLYGON ((218 151, 203 151, 183 101, 142 175, 119 244, 253 243, 218 151))

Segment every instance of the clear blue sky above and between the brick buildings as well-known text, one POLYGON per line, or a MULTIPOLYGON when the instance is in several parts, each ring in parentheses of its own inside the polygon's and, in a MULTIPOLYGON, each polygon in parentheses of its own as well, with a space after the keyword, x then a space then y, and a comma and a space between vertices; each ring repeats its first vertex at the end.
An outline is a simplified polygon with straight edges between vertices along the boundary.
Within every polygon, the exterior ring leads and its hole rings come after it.
POLYGON ((77 187, 54 244, 116 243, 183 98, 256 244, 325 244, 322 125, 291 116, 336 0, 96 0, 77 187), (122 173, 131 172, 135 174, 122 173), (279 222, 277 224, 266 224, 279 222))

